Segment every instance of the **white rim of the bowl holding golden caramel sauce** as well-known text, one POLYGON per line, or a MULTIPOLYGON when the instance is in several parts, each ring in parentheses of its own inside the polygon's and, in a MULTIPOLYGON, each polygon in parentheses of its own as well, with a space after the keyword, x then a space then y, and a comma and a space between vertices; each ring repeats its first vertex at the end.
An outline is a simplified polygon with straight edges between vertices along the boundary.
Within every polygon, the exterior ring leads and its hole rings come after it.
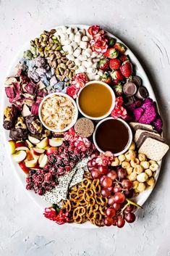
POLYGON ((92 80, 92 81, 86 83, 85 86, 82 87, 82 88, 80 89, 80 91, 78 92, 77 99, 76 99, 77 107, 78 107, 78 110, 80 111, 80 113, 81 113, 84 117, 87 117, 87 118, 89 118, 89 119, 91 119, 91 120, 101 120, 101 119, 103 119, 103 118, 105 118, 105 117, 108 117, 108 116, 111 114, 111 111, 114 110, 115 101, 116 101, 116 96, 115 96, 114 91, 112 90, 112 88, 111 88, 107 83, 104 83, 104 82, 99 81, 99 80, 92 80), (90 117, 90 115, 86 115, 86 114, 80 109, 80 105, 79 105, 79 96, 80 96, 80 93, 82 92, 82 90, 83 90, 85 87, 87 87, 87 86, 89 86, 90 84, 93 84, 93 83, 100 83, 101 85, 106 86, 106 88, 108 88, 109 91, 111 92, 111 97, 112 97, 111 107, 110 107, 109 111, 108 111, 105 115, 103 115, 103 116, 101 116, 101 117, 90 117))

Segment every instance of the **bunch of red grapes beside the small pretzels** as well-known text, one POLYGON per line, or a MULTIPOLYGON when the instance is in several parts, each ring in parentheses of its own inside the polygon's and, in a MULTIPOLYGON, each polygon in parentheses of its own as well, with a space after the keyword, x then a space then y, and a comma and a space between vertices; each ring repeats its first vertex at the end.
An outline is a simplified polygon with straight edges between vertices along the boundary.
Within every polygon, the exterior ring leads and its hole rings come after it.
POLYGON ((98 165, 98 152, 91 154, 88 161, 88 170, 91 176, 100 179, 101 195, 108 198, 108 208, 104 218, 105 226, 122 228, 125 221, 135 221, 135 205, 129 198, 133 197, 132 182, 127 179, 127 171, 123 168, 113 169, 111 166, 98 165))

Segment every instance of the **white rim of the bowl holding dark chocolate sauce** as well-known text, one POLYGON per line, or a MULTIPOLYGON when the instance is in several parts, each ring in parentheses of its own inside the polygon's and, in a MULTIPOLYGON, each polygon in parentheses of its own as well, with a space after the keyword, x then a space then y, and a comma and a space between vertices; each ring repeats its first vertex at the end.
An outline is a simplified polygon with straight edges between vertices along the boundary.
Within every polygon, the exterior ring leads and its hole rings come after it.
MULTIPOLYGON (((128 131, 129 131, 129 141, 127 143, 127 146, 121 151, 121 152, 117 152, 116 154, 114 154, 115 157, 119 156, 120 154, 124 154, 124 152, 127 152, 127 149, 129 149, 129 146, 132 144, 132 130, 131 128, 129 127, 128 123, 125 122, 123 119, 121 118, 117 118, 115 119, 114 117, 106 117, 105 119, 101 120, 95 127, 95 131, 93 133, 93 142, 96 146, 96 148, 98 149, 99 152, 103 152, 103 150, 100 149, 100 147, 98 146, 96 140, 95 140, 95 133, 98 129, 98 126, 101 125, 101 123, 105 122, 106 120, 119 120, 120 122, 124 123, 124 125, 126 125, 128 131)), ((104 152, 103 152, 104 153, 104 152)))

